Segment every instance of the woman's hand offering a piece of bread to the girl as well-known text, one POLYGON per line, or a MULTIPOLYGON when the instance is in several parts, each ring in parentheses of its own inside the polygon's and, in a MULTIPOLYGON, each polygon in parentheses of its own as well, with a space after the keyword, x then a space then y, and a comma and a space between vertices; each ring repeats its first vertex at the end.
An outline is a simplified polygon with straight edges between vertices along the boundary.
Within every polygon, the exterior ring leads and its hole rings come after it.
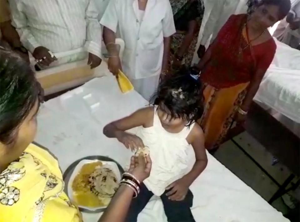
POLYGON ((140 182, 149 177, 151 171, 150 156, 144 157, 141 153, 138 157, 131 157, 129 173, 133 174, 140 182))

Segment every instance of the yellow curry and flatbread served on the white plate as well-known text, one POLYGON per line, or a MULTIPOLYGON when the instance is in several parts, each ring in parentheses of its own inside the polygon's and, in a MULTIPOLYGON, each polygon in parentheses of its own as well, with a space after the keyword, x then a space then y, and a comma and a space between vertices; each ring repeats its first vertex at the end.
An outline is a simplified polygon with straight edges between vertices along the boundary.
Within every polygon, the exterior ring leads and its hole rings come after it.
POLYGON ((73 180, 72 189, 78 205, 103 207, 109 204, 117 191, 118 180, 112 170, 97 161, 83 165, 73 180))

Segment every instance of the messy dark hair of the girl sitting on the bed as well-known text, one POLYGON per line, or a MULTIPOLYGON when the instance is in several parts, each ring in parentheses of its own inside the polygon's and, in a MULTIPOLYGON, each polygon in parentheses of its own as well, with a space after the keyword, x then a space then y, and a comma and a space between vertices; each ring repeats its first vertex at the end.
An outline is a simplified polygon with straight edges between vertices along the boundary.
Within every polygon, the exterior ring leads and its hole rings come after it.
POLYGON ((190 126, 203 114, 202 84, 183 68, 159 84, 150 100, 152 104, 154 101, 155 104, 163 104, 171 118, 185 118, 187 126, 190 126))

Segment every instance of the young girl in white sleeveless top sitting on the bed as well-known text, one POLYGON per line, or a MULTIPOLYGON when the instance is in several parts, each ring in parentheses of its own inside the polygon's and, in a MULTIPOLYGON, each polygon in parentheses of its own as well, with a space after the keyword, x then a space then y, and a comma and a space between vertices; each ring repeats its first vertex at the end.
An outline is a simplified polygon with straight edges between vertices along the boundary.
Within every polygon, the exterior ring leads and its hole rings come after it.
POLYGON ((168 221, 195 221, 189 186, 207 165, 203 131, 196 123, 203 113, 201 88, 198 80, 181 71, 159 85, 153 97, 158 105, 104 127, 107 137, 117 138, 128 149, 148 146, 152 159, 150 177, 133 199, 126 221, 137 221, 153 195, 161 197, 168 221), (125 132, 134 127, 138 127, 137 135, 125 132), (190 149, 194 150, 196 162, 188 172, 190 149))

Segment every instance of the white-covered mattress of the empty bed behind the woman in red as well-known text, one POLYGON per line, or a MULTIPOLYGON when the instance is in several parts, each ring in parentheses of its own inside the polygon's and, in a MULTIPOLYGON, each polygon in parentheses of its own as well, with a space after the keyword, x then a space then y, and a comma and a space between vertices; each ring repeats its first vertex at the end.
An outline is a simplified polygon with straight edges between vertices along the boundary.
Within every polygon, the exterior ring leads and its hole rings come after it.
POLYGON ((274 60, 254 100, 300 123, 300 51, 275 41, 274 60))

